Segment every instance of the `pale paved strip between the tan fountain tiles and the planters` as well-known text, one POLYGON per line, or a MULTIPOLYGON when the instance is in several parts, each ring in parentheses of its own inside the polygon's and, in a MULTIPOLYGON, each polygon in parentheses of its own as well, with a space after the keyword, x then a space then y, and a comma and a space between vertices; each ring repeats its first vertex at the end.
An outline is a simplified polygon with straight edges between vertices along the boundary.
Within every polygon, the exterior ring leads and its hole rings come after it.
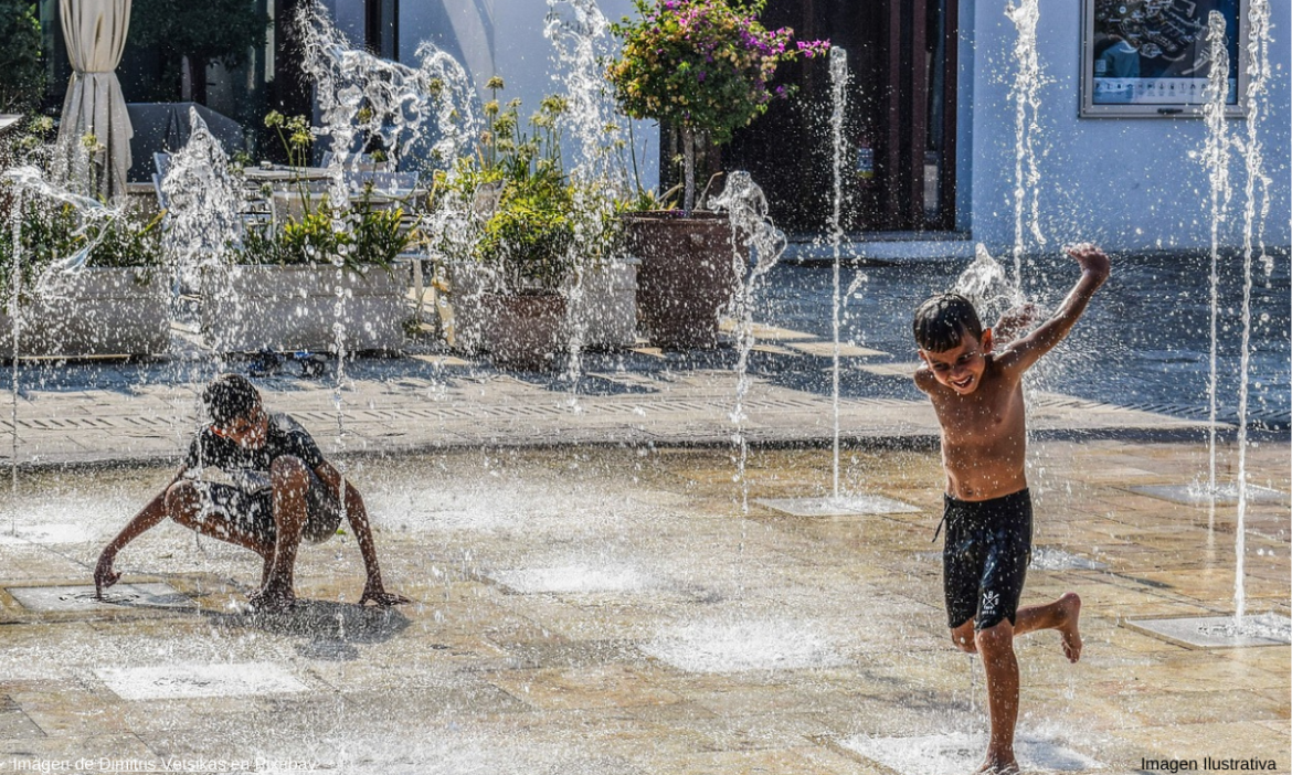
MULTIPOLYGON (((271 411, 289 412, 324 452, 402 455, 441 448, 552 444, 824 444, 835 433, 828 390, 833 344, 762 326, 751 354, 744 421, 731 346, 664 353, 641 346, 587 353, 580 377, 514 372, 487 358, 422 349, 403 358, 335 360, 307 377, 292 359, 253 381, 271 411), (340 369, 337 368, 340 366, 340 369)), ((176 461, 196 429, 199 394, 248 360, 202 353, 154 363, 19 362, 18 391, 0 409, 0 464, 176 461), (17 417, 14 434, 13 417, 17 417)), ((913 356, 912 356, 913 358, 913 356)), ((841 347, 840 434, 845 443, 937 443, 929 402, 912 385, 911 358, 841 347)), ((12 376, 12 375, 10 375, 12 376)), ((1040 437, 1202 439, 1204 421, 1052 391, 1031 391, 1040 437)))

